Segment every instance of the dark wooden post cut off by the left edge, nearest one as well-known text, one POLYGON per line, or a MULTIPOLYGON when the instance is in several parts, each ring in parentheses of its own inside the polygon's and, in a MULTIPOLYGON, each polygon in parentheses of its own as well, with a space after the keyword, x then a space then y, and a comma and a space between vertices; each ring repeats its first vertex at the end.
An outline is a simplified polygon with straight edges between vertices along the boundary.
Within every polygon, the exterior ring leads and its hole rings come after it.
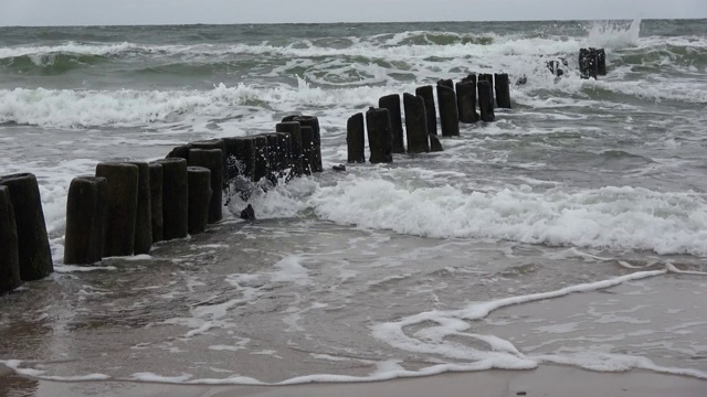
POLYGON ((22 285, 20 250, 10 189, 0 185, 0 296, 22 285))

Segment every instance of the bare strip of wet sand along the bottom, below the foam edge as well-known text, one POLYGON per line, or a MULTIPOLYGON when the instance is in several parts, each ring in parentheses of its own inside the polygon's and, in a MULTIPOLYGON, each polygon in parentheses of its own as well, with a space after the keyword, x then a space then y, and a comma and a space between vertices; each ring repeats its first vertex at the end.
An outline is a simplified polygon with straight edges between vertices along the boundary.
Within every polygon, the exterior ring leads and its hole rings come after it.
MULTIPOLYGON (((2 374, 2 369, 0 369, 2 374)), ((2 396, 170 396, 170 397, 704 397, 707 382, 695 378, 633 371, 595 373, 563 366, 534 371, 488 371, 444 374, 362 384, 310 384, 296 386, 184 386, 128 382, 56 383, 13 374, 0 375, 2 396)))

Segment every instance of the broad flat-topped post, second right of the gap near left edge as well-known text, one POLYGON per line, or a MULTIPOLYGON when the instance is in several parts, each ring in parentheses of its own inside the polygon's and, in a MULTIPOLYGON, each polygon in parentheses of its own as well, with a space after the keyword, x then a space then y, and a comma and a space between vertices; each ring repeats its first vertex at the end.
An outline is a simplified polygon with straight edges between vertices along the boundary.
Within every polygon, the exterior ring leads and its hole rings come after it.
POLYGON ((125 162, 96 165, 96 176, 103 176, 108 182, 104 257, 130 256, 135 253, 138 173, 137 165, 125 162))

